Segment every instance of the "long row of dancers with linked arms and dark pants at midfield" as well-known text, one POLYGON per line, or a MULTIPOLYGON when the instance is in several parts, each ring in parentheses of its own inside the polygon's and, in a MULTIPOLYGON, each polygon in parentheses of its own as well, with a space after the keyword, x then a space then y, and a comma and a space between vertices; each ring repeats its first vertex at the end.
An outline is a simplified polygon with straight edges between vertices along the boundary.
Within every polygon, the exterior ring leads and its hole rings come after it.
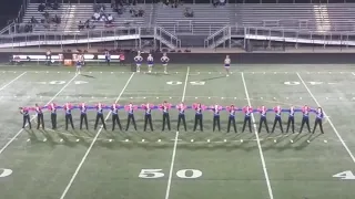
POLYGON ((20 113, 23 115, 23 125, 22 128, 26 127, 27 123, 29 124, 29 127, 31 128, 31 121, 30 121, 30 112, 34 111, 37 114, 38 119, 38 127, 42 125, 42 128, 44 129, 44 122, 43 122, 43 109, 48 109, 51 113, 51 122, 52 122, 52 128, 57 128, 57 111, 63 109, 65 113, 65 129, 68 129, 68 125, 70 124, 72 128, 74 128, 73 121, 72 121, 72 111, 79 109, 80 111, 80 129, 82 129, 82 125, 85 124, 85 128, 88 127, 88 116, 87 113, 89 109, 93 109, 97 112, 97 118, 94 124, 94 129, 97 129, 99 121, 101 121, 102 126, 104 129, 106 129, 105 119, 103 118, 104 109, 110 109, 109 114, 112 114, 112 130, 114 130, 115 125, 119 126, 119 128, 122 130, 122 125, 119 117, 119 111, 124 109, 128 113, 128 124, 125 130, 129 129, 130 124, 133 124, 134 129, 136 130, 136 124, 134 118, 134 112, 136 109, 142 109, 144 112, 144 132, 146 130, 148 124, 150 125, 151 130, 153 129, 152 124, 152 111, 153 109, 160 109, 162 111, 163 116, 163 125, 162 130, 165 129, 165 126, 168 126, 168 129, 171 130, 170 125, 170 111, 176 109, 179 112, 178 117, 178 130, 180 128, 180 124, 182 123, 184 126, 184 130, 186 132, 186 122, 185 122, 185 111, 193 109, 195 112, 195 119, 194 119, 194 128, 193 130, 196 130, 197 125, 200 126, 200 130, 203 132, 203 112, 204 111, 211 111, 213 113, 213 132, 215 130, 215 127, 217 127, 219 130, 221 130, 221 112, 226 111, 229 114, 229 123, 227 123, 227 132, 230 132, 231 126, 233 126, 234 132, 236 133, 236 123, 235 123, 235 115, 237 112, 244 113, 244 124, 242 132, 245 130, 246 124, 248 126, 250 132, 252 133, 252 125, 251 125, 251 117, 253 113, 260 114, 260 125, 258 125, 258 133, 261 133, 262 126, 264 125, 266 128, 266 132, 270 133, 267 121, 266 121, 266 114, 270 112, 273 112, 275 114, 274 124, 272 127, 272 133, 275 130, 276 124, 280 125, 280 129, 282 133, 283 126, 282 126, 282 113, 286 113, 288 115, 287 119, 287 129, 286 133, 288 133, 290 126, 292 127, 292 132, 295 133, 294 123, 295 123, 295 113, 300 112, 302 113, 302 124, 300 128, 300 133, 302 133, 304 125, 307 126, 308 133, 311 133, 310 127, 310 113, 315 113, 316 118, 314 123, 313 133, 315 132, 316 127, 320 126, 321 133, 323 134, 323 125, 322 121, 324 117, 324 113, 322 107, 318 108, 311 108, 307 105, 296 108, 294 106, 291 106, 288 108, 282 108, 281 106, 276 106, 273 108, 267 108, 265 106, 261 106, 258 108, 253 108, 252 106, 244 106, 244 107, 236 107, 234 105, 230 106, 222 106, 219 104, 206 106, 201 103, 195 103, 193 105, 185 105, 184 103, 180 103, 178 105, 172 105, 168 102, 163 102, 159 105, 153 105, 150 103, 142 104, 142 105, 134 105, 132 103, 128 105, 120 105, 116 103, 113 103, 111 105, 104 105, 102 103, 98 103, 95 105, 87 105, 85 103, 80 103, 78 105, 73 105, 70 103, 65 103, 64 105, 60 106, 54 103, 50 103, 47 106, 40 106, 36 104, 34 107, 20 107, 20 113))

